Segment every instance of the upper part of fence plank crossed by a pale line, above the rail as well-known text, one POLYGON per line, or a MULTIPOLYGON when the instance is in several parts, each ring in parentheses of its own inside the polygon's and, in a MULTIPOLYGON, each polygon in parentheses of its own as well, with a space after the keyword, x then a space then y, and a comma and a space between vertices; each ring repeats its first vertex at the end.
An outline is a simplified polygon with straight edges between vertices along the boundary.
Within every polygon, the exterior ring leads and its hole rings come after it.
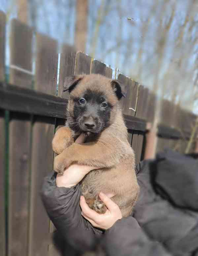
POLYGON ((31 88, 32 29, 15 19, 11 22, 10 47, 10 83, 31 88))

